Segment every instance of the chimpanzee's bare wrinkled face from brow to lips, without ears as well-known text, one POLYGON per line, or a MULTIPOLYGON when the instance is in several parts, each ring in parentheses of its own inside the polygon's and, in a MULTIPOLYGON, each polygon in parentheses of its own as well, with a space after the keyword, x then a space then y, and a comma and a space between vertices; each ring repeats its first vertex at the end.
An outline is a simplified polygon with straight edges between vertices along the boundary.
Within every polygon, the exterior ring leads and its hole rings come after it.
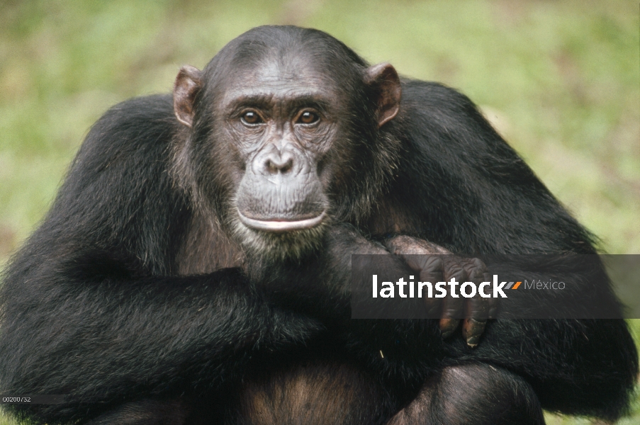
POLYGON ((244 171, 235 195, 240 222, 274 233, 322 225, 329 179, 321 181, 321 165, 339 145, 335 88, 308 67, 277 63, 234 80, 220 112, 224 137, 244 171))

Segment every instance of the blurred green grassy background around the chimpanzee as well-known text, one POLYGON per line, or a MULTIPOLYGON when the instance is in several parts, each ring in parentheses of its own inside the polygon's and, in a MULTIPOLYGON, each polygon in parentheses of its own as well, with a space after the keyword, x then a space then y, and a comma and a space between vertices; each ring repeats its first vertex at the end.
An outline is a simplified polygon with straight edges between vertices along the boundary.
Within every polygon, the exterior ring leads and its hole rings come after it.
MULTIPOLYGON (((263 24, 325 30, 463 91, 603 251, 640 254, 636 1, 0 0, 0 268, 107 108, 170 91, 182 64, 263 24)), ((636 401, 619 424, 638 423, 636 401)))

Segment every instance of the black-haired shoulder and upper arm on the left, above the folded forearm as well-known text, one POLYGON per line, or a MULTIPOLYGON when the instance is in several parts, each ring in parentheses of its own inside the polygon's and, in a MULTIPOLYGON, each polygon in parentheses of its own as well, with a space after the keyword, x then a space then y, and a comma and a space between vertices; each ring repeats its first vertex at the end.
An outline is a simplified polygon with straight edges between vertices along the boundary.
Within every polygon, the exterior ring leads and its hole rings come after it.
POLYGON ((109 109, 89 131, 47 219, 25 248, 52 256, 110 253, 135 259, 144 273, 170 273, 180 217, 189 214, 167 166, 177 130, 170 95, 133 98, 109 109))

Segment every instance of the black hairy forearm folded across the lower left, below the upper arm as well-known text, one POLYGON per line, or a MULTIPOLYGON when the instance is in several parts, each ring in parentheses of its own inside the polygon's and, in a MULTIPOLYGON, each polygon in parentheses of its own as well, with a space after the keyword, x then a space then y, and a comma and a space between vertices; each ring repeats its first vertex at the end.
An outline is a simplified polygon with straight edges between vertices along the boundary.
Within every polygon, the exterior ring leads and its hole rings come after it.
POLYGON ((6 281, 0 337, 5 392, 69 396, 38 406, 50 419, 72 419, 83 406, 213 389, 249 351, 299 344, 320 329, 269 307, 233 269, 90 281, 56 266, 6 281))

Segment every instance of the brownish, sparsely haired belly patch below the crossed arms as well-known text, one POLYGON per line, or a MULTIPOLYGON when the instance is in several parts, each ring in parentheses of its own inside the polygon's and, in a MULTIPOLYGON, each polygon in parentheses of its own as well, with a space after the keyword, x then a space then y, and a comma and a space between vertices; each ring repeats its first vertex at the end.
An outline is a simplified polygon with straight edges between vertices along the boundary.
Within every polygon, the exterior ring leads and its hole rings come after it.
POLYGON ((225 424, 375 425, 398 406, 371 374, 345 363, 312 360, 256 375, 225 424))

